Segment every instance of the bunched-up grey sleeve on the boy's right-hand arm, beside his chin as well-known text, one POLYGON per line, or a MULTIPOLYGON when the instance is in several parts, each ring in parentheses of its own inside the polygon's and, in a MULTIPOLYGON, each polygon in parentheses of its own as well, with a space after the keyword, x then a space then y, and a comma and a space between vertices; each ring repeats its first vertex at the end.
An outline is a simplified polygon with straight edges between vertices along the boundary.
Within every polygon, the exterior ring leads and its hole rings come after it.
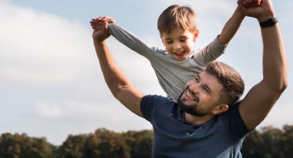
POLYGON ((201 67, 206 67, 208 63, 219 58, 224 52, 227 45, 219 42, 218 36, 209 45, 197 50, 193 54, 195 63, 201 67))

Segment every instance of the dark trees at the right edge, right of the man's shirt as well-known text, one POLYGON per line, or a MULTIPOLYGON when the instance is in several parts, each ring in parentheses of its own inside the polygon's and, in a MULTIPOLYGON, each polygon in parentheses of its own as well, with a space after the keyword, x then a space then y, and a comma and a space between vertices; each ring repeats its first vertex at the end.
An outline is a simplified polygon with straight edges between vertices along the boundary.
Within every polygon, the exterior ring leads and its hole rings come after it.
POLYGON ((267 126, 252 131, 243 141, 243 157, 289 158, 293 156, 293 126, 285 125, 283 130, 267 126))

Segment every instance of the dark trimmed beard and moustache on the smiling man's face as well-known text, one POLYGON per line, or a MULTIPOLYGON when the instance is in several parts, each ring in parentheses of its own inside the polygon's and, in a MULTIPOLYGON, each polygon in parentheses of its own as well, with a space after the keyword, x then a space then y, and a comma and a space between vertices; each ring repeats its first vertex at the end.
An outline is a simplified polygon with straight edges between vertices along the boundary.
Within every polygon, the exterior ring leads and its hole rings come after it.
MULTIPOLYGON (((186 91, 186 89, 185 89, 186 91)), ((185 112, 185 113, 189 113, 190 115, 194 115, 194 116, 205 116, 208 114, 208 112, 206 111, 199 111, 196 107, 198 105, 198 103, 196 104, 184 104, 184 100, 182 99, 182 95, 185 92, 183 91, 181 93, 181 95, 179 96, 178 100, 177 100, 177 104, 179 105, 179 107, 185 112)))

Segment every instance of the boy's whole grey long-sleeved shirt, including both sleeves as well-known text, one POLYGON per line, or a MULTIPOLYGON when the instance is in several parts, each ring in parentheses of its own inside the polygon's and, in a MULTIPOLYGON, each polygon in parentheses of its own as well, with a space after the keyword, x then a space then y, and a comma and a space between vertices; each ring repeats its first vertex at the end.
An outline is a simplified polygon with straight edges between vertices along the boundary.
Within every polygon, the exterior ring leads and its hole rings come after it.
POLYGON ((150 60, 159 84, 167 93, 168 98, 174 102, 179 98, 185 84, 203 71, 208 63, 221 56, 227 46, 221 45, 218 38, 215 38, 208 46, 198 51, 193 50, 190 58, 178 61, 170 56, 165 49, 150 47, 137 36, 114 23, 110 23, 109 28, 109 32, 114 38, 150 60))

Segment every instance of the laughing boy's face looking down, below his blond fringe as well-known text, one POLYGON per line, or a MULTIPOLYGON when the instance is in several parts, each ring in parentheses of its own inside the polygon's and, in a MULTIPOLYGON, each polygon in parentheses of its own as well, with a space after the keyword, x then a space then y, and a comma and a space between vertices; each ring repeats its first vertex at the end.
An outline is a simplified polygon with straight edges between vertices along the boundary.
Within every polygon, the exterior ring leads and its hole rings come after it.
POLYGON ((187 59, 192 51, 193 43, 199 35, 199 30, 190 32, 186 30, 174 30, 170 34, 161 34, 165 49, 178 61, 187 59))

